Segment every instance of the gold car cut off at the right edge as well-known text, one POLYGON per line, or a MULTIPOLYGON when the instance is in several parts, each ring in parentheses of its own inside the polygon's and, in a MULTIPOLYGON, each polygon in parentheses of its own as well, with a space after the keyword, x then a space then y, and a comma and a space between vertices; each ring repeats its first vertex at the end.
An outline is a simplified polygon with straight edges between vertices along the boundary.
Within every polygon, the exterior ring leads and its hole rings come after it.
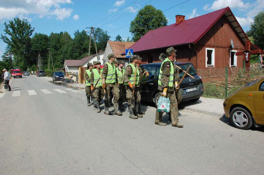
POLYGON ((264 77, 234 91, 223 105, 225 116, 239 129, 264 125, 264 77))

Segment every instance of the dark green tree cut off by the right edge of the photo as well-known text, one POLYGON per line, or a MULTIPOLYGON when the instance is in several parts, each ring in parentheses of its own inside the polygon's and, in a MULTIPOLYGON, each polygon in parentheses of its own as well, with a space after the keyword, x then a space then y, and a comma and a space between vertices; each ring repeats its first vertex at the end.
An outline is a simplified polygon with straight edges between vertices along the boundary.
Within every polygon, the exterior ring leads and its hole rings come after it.
POLYGON ((264 49, 264 11, 259 12, 254 17, 254 22, 251 24, 251 30, 254 44, 259 48, 264 49))

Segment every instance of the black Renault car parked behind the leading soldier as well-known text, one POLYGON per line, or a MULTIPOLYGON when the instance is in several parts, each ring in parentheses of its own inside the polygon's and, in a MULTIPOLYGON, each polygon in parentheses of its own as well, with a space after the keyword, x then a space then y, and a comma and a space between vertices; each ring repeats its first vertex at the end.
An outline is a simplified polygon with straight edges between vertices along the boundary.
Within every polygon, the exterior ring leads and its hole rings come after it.
MULTIPOLYGON (((147 102, 154 102, 157 106, 158 102, 158 75, 162 62, 148 63, 141 65, 149 72, 149 77, 143 77, 141 88, 141 100, 147 102)), ((174 62, 177 66, 183 70, 189 70, 193 78, 186 75, 180 84, 180 91, 182 95, 182 102, 191 101, 196 102, 203 95, 203 81, 202 78, 196 73, 194 66, 190 62, 174 62)), ((180 78, 184 75, 184 72, 179 74, 180 78)))

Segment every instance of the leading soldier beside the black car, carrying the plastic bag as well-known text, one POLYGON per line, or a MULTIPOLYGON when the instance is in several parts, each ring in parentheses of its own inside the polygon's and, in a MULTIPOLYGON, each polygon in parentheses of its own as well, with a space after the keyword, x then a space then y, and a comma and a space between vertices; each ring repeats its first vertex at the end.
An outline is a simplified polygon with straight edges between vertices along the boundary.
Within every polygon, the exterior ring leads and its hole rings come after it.
MULTIPOLYGON (((175 95, 175 89, 177 86, 176 79, 179 79, 179 73, 175 66, 173 66, 173 61, 176 57, 176 50, 173 47, 170 47, 166 50, 167 58, 162 62, 159 78, 158 78, 158 90, 159 95, 167 97, 170 100, 170 113, 171 113, 171 125, 173 127, 183 127, 183 125, 179 122, 178 117, 178 103, 175 95), (176 79, 175 79, 176 77, 176 79)), ((178 90, 178 89, 176 89, 178 90)), ((162 112, 158 112, 158 108, 156 110, 155 116, 155 124, 165 126, 166 123, 162 123, 162 112)))

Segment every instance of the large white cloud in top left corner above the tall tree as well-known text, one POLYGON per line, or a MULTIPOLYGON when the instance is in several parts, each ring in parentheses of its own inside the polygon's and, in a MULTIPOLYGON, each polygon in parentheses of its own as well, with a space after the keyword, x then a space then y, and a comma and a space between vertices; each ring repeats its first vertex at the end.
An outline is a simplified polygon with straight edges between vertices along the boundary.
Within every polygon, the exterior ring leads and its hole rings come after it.
POLYGON ((28 15, 36 15, 35 17, 39 18, 49 18, 52 15, 58 20, 63 20, 71 16, 73 10, 61 8, 61 4, 71 3, 71 0, 1 0, 0 20, 10 20, 14 17, 32 20, 28 15))

